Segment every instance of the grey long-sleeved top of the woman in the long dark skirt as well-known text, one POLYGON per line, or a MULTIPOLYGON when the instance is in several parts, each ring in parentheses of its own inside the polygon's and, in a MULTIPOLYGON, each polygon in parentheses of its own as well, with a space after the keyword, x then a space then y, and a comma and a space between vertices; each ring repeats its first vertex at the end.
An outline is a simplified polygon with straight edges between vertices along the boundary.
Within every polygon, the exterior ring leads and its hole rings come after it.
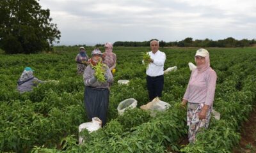
POLYGON ((105 66, 105 76, 106 76, 106 82, 98 82, 97 80, 94 82, 92 81, 92 78, 95 74, 95 69, 92 68, 91 65, 88 65, 84 70, 84 85, 95 87, 95 88, 109 88, 109 83, 113 82, 113 75, 108 68, 108 66, 105 66))

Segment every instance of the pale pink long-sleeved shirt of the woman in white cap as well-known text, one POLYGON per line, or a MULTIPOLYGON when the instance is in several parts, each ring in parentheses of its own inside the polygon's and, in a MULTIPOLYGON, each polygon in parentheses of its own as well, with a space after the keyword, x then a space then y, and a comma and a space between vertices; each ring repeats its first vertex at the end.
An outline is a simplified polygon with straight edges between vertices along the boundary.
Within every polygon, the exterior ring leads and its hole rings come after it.
POLYGON ((211 106, 214 100, 216 80, 217 75, 212 68, 208 68, 200 74, 193 71, 183 99, 190 103, 204 103, 211 106))

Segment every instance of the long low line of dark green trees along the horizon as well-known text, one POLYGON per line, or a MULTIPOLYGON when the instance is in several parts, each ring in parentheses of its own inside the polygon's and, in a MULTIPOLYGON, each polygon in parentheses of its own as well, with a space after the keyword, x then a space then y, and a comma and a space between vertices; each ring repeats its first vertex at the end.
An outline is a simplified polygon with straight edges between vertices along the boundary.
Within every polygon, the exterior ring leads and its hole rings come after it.
MULTIPOLYGON (((154 39, 157 40, 157 39, 154 39)), ((151 40, 150 40, 151 41, 151 40)), ((124 47, 148 47, 150 41, 116 41, 113 45, 124 47)), ((256 43, 255 39, 252 40, 236 40, 232 37, 225 38, 223 40, 193 40, 193 38, 186 38, 181 41, 159 41, 160 47, 250 47, 256 43)))

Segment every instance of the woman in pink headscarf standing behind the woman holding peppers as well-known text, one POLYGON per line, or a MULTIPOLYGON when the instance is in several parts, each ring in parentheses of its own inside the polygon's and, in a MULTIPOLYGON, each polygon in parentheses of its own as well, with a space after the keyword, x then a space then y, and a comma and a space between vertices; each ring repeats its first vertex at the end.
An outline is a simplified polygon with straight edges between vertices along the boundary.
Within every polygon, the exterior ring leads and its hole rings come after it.
POLYGON ((106 64, 112 73, 115 73, 116 54, 113 53, 112 43, 105 43, 105 52, 103 53, 103 63, 106 64))

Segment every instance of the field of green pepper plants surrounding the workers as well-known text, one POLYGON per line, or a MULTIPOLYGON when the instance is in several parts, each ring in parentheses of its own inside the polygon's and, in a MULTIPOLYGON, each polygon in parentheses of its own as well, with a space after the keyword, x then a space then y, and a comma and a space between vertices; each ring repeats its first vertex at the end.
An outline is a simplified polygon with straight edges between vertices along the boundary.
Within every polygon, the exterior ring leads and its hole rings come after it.
MULTIPOLYGON (((88 54, 93 48, 86 48, 88 54)), ((115 82, 111 86, 108 124, 82 134, 77 144, 78 126, 88 122, 83 105, 83 77, 76 75, 77 48, 55 47, 52 54, 0 55, 0 150, 4 152, 230 152, 239 141, 241 122, 247 119, 255 101, 255 51, 252 48, 209 48, 211 66, 218 75, 214 110, 221 120, 212 118, 208 130, 198 135, 194 145, 180 146, 187 135, 186 110, 179 103, 186 90, 198 48, 161 48, 166 53, 164 69, 178 70, 164 76, 161 100, 172 106, 150 117, 136 108, 118 116, 118 104, 127 98, 148 103, 145 66, 141 65, 147 47, 116 47, 115 82), (32 92, 19 94, 16 82, 24 67, 35 69, 41 80, 32 92), (118 85, 117 80, 130 80, 118 85)))

